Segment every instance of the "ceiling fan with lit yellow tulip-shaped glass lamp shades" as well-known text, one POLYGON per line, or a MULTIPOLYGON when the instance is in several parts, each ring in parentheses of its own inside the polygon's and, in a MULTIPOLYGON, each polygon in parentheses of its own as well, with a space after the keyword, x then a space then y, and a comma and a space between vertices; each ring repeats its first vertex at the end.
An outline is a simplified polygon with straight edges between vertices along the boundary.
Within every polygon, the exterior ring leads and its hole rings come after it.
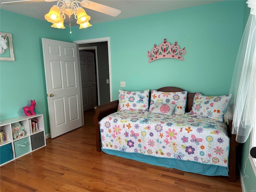
MULTIPOLYGON (((52 27, 54 28, 65 28, 64 19, 65 14, 68 15, 69 19, 72 14, 77 19, 77 24, 80 24, 80 28, 86 28, 92 26, 88 21, 90 16, 88 16, 85 10, 82 8, 88 8, 94 11, 101 12, 113 17, 118 16, 121 13, 121 10, 112 8, 103 4, 92 2, 90 0, 18 0, 10 2, 1 2, 4 5, 12 4, 22 4, 22 3, 35 3, 35 2, 54 2, 58 1, 57 5, 52 6, 49 13, 45 15, 45 19, 48 22, 53 23, 52 27)), ((70 26, 71 33, 71 26, 70 26)))

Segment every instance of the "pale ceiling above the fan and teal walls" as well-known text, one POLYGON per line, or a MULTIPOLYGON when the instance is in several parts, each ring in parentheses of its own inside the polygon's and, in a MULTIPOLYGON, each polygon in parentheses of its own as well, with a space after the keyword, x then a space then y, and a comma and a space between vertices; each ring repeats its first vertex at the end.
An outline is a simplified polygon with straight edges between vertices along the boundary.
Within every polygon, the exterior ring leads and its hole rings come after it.
MULTIPOLYGON (((10 2, 17 0, 0 0, 0 2, 10 2)), ((222 0, 92 0, 94 2, 104 4, 122 12, 116 16, 112 17, 94 10, 86 9, 86 13, 91 16, 90 23, 101 23, 112 20, 119 20, 124 18, 142 16, 147 14, 166 12, 170 10, 176 10, 181 8, 187 8, 192 6, 198 6, 202 4, 209 4, 214 2, 219 2, 222 0)), ((15 12, 18 14, 30 16, 40 20, 45 20, 44 15, 49 12, 55 2, 34 2, 34 3, 24 3, 24 4, 13 4, 4 5, 0 4, 0 8, 15 12)), ((74 15, 73 15, 74 16, 74 15)), ((67 20, 68 16, 65 20, 67 20)), ((74 19, 74 18, 73 18, 74 19)))

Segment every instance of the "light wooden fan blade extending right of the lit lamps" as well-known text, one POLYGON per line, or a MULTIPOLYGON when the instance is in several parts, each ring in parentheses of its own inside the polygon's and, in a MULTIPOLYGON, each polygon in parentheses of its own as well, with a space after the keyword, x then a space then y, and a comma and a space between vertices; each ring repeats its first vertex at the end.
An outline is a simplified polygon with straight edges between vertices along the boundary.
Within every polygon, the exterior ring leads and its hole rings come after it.
POLYGON ((112 7, 109 7, 106 5, 102 5, 102 4, 99 4, 96 2, 88 1, 88 0, 82 0, 80 2, 80 5, 82 7, 85 7, 85 8, 94 10, 94 11, 98 11, 98 12, 101 12, 101 13, 104 13, 104 14, 107 14, 107 15, 110 15, 113 17, 116 17, 121 13, 121 11, 118 9, 115 9, 115 8, 112 8, 112 7))

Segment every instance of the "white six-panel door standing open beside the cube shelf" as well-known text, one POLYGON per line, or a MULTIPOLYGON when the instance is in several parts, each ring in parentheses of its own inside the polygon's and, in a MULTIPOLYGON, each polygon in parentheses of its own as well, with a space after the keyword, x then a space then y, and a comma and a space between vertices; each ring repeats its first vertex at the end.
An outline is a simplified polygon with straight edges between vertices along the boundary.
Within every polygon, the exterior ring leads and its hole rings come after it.
POLYGON ((42 38, 51 138, 82 126, 75 43, 42 38))

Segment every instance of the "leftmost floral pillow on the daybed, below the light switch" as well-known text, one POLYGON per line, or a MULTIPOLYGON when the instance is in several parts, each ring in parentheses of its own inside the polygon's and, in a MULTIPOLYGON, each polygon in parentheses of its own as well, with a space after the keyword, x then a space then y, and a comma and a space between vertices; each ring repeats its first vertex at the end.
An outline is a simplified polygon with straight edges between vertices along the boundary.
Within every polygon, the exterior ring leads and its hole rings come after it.
POLYGON ((149 90, 123 91, 118 94, 118 111, 120 110, 148 110, 149 90))

